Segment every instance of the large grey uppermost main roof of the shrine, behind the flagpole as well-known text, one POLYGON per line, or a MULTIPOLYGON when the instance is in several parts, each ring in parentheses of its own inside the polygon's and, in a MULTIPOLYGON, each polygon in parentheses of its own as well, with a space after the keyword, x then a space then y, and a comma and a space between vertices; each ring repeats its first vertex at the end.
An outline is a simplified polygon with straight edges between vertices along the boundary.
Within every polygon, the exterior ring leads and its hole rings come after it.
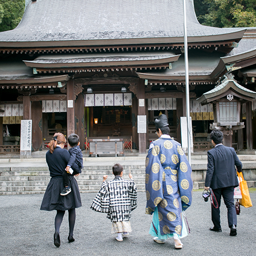
MULTIPOLYGON (((200 25, 193 0, 186 3, 188 41, 242 37, 244 29, 200 25)), ((0 33, 0 46, 3 42, 12 42, 10 46, 17 42, 32 45, 40 42, 46 46, 46 42, 54 45, 54 41, 55 44, 75 41, 77 45, 92 45, 99 44, 99 40, 114 40, 112 43, 119 45, 127 40, 147 44, 148 38, 160 38, 159 42, 183 42, 182 0, 29 1, 17 28, 0 33)))

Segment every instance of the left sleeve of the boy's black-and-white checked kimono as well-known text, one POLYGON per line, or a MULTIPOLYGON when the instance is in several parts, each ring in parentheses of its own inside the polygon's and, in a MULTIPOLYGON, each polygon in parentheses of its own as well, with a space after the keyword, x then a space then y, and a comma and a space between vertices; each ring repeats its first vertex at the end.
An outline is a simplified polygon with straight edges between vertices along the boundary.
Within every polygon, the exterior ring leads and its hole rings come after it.
POLYGON ((109 213, 110 192, 106 181, 103 181, 101 188, 91 204, 91 209, 99 212, 109 213))

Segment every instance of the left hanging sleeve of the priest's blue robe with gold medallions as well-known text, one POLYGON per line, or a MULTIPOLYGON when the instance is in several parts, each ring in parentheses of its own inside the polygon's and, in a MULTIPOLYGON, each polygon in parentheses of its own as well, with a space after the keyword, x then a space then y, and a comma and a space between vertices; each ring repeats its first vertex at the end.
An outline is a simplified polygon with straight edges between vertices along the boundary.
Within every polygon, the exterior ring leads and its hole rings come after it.
POLYGON ((153 214, 155 207, 163 199, 163 167, 157 154, 156 147, 148 151, 146 157, 146 212, 145 214, 153 214))

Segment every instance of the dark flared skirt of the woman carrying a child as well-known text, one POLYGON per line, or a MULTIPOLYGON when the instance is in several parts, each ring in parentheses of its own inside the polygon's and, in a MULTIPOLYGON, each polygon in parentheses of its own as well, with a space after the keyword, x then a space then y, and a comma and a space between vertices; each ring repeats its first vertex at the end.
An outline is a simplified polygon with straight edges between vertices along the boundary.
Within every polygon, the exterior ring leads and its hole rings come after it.
POLYGON ((63 178, 62 176, 52 177, 46 188, 40 210, 69 210, 81 207, 80 191, 74 176, 69 176, 69 184, 71 193, 67 196, 60 196, 64 188, 63 178))

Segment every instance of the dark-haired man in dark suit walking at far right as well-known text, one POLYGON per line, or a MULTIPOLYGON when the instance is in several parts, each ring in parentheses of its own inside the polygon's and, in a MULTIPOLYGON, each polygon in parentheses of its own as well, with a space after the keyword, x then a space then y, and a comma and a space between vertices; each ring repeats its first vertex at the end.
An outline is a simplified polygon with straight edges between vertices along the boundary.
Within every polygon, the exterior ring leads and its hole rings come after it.
POLYGON ((227 207, 228 226, 230 228, 230 236, 237 235, 237 213, 234 206, 234 187, 239 185, 237 172, 242 171, 242 163, 239 160, 233 147, 227 147, 222 144, 223 133, 214 130, 210 134, 210 139, 214 148, 209 150, 207 172, 205 178, 205 189, 212 189, 218 207, 211 205, 211 220, 214 227, 210 227, 211 231, 221 232, 220 224, 220 204, 221 196, 227 207))

